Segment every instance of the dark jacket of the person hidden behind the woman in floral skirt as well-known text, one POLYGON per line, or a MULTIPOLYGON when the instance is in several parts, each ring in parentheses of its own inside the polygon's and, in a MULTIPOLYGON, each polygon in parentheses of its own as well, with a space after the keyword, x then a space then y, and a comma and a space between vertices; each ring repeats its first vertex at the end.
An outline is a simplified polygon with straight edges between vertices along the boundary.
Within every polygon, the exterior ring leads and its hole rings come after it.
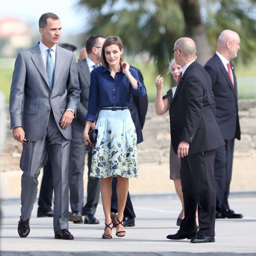
MULTIPOLYGON (((135 67, 132 67, 135 68, 135 67)), ((138 68, 135 68, 139 75, 139 81, 144 84, 144 78, 141 71, 138 68)), ((131 105, 129 110, 131 112, 132 120, 134 122, 136 133, 137 133, 137 143, 143 142, 142 129, 146 120, 148 107, 148 97, 147 94, 143 97, 138 97, 132 95, 131 105)))

